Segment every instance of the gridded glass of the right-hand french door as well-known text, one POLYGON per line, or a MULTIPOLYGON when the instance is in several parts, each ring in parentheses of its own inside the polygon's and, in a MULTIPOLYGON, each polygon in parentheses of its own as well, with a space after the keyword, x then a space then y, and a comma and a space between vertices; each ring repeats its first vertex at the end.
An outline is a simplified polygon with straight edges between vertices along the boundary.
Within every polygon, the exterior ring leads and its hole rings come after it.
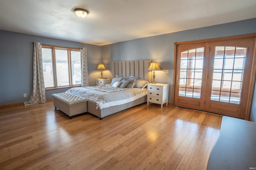
POLYGON ((247 49, 216 46, 211 100, 240 104, 247 49))

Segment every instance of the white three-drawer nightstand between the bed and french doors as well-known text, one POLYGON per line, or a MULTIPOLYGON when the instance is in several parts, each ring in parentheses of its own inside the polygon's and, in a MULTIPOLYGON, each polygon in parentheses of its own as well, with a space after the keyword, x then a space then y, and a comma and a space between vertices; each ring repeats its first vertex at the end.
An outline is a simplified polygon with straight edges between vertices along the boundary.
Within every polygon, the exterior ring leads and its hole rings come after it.
POLYGON ((148 102, 161 104, 161 109, 163 108, 164 103, 166 103, 166 106, 168 105, 168 93, 169 84, 148 84, 148 102))

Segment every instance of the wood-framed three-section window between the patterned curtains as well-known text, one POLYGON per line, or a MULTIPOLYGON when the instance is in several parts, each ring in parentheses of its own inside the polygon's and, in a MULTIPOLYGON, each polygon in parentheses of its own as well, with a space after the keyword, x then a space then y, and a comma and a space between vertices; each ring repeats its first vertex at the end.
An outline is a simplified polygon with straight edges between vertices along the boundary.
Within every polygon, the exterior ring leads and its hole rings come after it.
POLYGON ((80 49, 42 45, 45 88, 81 84, 80 49))

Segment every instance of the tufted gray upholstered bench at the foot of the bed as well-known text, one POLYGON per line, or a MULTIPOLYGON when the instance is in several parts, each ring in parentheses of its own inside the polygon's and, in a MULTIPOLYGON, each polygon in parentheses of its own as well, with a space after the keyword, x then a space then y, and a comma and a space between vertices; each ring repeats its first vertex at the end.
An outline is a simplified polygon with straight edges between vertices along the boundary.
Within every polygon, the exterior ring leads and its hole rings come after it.
POLYGON ((54 107, 66 113, 70 119, 71 116, 87 112, 86 98, 68 92, 52 94, 52 98, 54 107))

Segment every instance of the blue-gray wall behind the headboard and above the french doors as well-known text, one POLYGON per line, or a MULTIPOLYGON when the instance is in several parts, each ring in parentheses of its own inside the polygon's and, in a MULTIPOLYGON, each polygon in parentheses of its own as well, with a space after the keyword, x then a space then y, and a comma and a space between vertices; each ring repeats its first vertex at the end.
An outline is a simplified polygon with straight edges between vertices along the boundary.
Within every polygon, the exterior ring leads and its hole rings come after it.
MULTIPOLYGON (((172 102, 174 43, 256 33, 256 18, 210 27, 190 29, 102 46, 103 61, 144 60, 156 61, 168 74, 156 71, 156 82, 170 84, 169 102, 172 102)), ((109 65, 110 66, 110 65, 109 65)), ((254 95, 252 117, 256 118, 254 95)), ((255 121, 254 118, 254 121, 255 121)))

